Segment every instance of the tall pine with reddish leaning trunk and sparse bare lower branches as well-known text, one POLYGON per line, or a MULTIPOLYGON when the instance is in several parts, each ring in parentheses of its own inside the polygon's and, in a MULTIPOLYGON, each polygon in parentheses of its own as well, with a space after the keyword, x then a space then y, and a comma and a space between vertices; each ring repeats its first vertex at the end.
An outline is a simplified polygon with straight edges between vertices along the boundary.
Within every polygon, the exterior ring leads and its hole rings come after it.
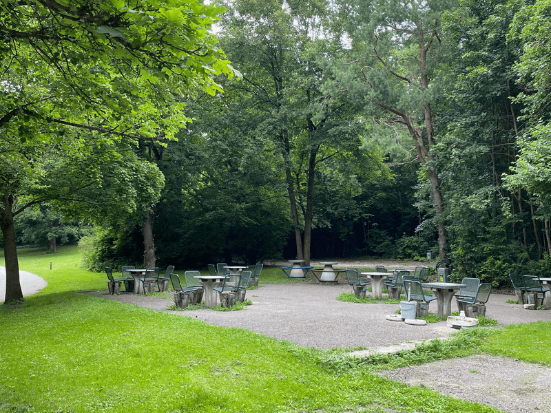
POLYGON ((342 81, 351 94, 367 98, 368 116, 401 125, 413 139, 417 160, 430 182, 430 197, 446 257, 446 222, 435 165, 435 68, 440 62, 441 18, 448 1, 337 1, 339 25, 351 40, 349 73, 342 81))

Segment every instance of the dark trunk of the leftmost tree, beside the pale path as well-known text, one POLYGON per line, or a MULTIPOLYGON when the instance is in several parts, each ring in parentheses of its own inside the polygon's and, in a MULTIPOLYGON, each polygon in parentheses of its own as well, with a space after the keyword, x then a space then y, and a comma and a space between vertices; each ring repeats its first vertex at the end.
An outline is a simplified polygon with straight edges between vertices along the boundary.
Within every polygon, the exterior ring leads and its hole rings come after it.
MULTIPOLYGON (((0 227, 4 242, 4 260, 6 262, 6 298, 4 303, 23 299, 23 290, 19 282, 19 262, 13 225, 13 195, 3 193, 0 204, 0 227)), ((0 297, 1 299, 2 297, 0 297)))

